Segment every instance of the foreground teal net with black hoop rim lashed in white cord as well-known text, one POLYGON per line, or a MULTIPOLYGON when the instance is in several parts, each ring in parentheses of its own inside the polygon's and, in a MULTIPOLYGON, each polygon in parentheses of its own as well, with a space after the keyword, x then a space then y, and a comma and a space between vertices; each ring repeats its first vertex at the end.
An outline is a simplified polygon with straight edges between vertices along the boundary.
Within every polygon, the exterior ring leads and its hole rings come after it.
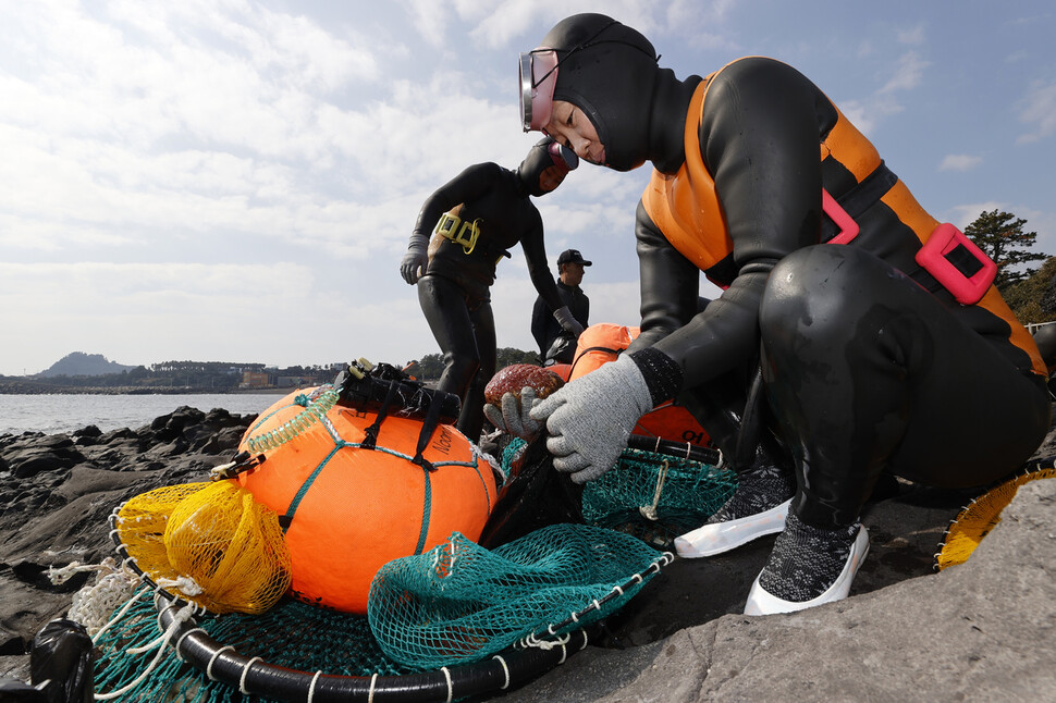
POLYGON ((367 617, 290 599, 210 617, 144 575, 147 585, 95 637, 97 698, 421 703, 496 692, 586 646, 584 627, 673 558, 579 525, 494 552, 454 533, 384 567, 367 617))

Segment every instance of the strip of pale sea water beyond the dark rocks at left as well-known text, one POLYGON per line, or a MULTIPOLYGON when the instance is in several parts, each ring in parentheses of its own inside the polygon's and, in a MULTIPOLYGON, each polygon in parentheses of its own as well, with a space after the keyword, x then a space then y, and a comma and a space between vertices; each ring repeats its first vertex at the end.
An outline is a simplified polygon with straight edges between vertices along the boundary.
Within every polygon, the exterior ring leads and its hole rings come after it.
POLYGON ((181 406, 208 412, 223 408, 233 415, 256 415, 281 397, 260 394, 173 394, 173 395, 4 395, 0 394, 0 434, 45 432, 70 433, 94 424, 103 432, 120 428, 133 430, 150 424, 181 406))

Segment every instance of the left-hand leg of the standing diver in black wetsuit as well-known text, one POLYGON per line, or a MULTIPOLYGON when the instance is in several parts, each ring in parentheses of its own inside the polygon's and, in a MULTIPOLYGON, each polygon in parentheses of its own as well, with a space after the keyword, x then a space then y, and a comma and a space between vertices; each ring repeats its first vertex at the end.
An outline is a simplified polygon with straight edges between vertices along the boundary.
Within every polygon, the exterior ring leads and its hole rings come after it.
POLYGON ((437 388, 457 395, 465 410, 466 392, 480 367, 477 337, 465 293, 450 279, 425 275, 418 281, 418 303, 444 355, 444 370, 437 388))

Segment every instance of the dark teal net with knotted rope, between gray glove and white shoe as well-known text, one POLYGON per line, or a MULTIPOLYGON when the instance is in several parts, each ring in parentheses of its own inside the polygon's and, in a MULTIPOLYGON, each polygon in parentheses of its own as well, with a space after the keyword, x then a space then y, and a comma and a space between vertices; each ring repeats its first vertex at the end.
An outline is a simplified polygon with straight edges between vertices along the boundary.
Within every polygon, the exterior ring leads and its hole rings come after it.
POLYGON ((737 476, 722 467, 716 452, 682 447, 683 456, 673 447, 624 449, 615 467, 584 488, 584 521, 660 548, 703 525, 733 495, 737 476))

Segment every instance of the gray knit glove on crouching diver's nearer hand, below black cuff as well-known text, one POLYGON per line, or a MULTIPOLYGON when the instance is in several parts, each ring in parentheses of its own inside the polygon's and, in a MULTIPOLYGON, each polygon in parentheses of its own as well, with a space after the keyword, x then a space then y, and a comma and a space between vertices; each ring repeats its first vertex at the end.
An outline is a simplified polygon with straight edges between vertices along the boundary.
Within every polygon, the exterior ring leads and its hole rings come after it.
POLYGON ((565 384, 531 409, 545 420, 554 468, 586 483, 607 471, 627 446, 638 418, 652 409, 646 379, 628 356, 565 384))

